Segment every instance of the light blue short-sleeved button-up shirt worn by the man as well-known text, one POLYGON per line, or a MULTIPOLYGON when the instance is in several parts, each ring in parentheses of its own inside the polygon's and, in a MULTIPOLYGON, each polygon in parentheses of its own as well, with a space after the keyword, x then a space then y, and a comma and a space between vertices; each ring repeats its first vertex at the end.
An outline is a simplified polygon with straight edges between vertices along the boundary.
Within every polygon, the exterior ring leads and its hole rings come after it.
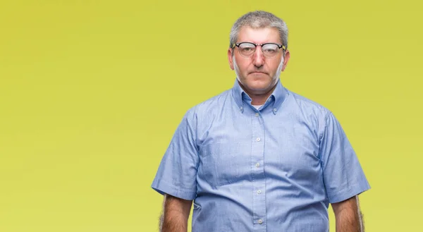
POLYGON ((326 232, 329 203, 370 186, 331 111, 280 80, 257 110, 235 80, 188 110, 152 188, 194 200, 192 232, 326 232))

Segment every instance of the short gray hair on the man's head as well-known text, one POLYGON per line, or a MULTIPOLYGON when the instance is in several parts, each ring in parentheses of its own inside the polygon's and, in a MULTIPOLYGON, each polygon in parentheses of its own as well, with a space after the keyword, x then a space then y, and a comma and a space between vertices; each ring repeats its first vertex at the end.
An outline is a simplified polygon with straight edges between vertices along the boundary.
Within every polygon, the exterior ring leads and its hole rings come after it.
POLYGON ((229 47, 233 47, 238 39, 238 34, 243 27, 250 28, 276 28, 279 31, 279 37, 282 45, 288 48, 288 27, 286 23, 276 17, 273 13, 266 11, 252 11, 238 18, 232 26, 229 35, 229 47))

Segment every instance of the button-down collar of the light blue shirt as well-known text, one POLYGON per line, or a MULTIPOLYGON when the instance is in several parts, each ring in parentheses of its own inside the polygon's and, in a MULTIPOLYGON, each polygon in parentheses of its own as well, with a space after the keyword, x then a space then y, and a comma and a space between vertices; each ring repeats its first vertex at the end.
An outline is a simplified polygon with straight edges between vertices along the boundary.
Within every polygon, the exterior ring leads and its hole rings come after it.
MULTIPOLYGON (((243 88, 238 83, 238 79, 235 79, 235 83, 233 84, 232 88, 232 96, 235 99, 236 104, 238 105, 238 109, 240 109, 241 113, 244 111, 244 101, 243 99, 247 100, 247 102, 251 102, 250 96, 243 90, 243 88)), ((276 83, 276 88, 269 96, 269 100, 274 99, 273 109, 272 111, 274 114, 279 110, 283 101, 285 101, 286 97, 288 96, 288 91, 285 87, 283 87, 281 83, 281 79, 278 79, 276 83)), ((265 103, 266 104, 266 103, 265 103)))

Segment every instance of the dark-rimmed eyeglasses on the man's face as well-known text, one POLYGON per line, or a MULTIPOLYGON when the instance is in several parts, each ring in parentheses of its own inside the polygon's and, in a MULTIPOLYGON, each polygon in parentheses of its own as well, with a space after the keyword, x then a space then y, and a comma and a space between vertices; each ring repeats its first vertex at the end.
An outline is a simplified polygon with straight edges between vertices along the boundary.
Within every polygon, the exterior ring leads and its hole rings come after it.
POLYGON ((278 54, 278 49, 283 49, 283 51, 286 50, 285 46, 274 43, 255 44, 251 42, 242 42, 233 44, 232 48, 234 49, 235 46, 239 48, 240 55, 246 58, 249 58, 252 56, 252 54, 255 54, 257 46, 262 47, 263 56, 266 58, 274 58, 278 54))

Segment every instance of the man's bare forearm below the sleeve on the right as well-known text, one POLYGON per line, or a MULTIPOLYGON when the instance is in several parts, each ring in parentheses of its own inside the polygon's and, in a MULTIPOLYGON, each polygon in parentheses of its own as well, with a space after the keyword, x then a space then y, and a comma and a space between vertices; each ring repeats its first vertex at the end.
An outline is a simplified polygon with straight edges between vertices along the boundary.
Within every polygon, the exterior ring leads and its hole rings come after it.
POLYGON ((335 213, 336 232, 364 232, 357 195, 331 205, 335 213))

